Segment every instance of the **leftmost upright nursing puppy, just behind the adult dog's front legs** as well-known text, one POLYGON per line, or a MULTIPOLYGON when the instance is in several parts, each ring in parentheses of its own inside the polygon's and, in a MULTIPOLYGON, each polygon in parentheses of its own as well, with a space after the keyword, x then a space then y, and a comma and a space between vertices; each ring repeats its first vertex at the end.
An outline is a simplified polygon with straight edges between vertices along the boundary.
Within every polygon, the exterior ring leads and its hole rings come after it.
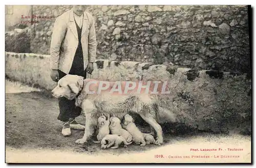
POLYGON ((110 114, 108 114, 108 116, 105 116, 102 114, 98 118, 98 135, 97 135, 98 141, 94 143, 99 144, 103 137, 110 134, 109 126, 110 126, 110 114))

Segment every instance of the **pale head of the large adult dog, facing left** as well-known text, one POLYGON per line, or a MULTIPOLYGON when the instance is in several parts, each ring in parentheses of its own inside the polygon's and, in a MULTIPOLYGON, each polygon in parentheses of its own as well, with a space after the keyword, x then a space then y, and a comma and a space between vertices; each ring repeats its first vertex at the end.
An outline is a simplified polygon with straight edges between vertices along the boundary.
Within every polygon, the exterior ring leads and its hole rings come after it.
POLYGON ((52 90, 52 95, 56 98, 66 97, 73 100, 82 90, 83 77, 78 75, 66 75, 62 77, 57 86, 52 90))

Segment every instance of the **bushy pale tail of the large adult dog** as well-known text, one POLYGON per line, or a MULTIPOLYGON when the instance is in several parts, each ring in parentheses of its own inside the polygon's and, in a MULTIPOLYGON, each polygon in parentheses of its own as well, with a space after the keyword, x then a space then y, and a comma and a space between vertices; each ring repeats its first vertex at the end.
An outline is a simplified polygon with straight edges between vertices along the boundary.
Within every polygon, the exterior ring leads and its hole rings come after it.
POLYGON ((159 122, 160 123, 165 123, 165 122, 175 122, 176 121, 176 115, 172 113, 172 111, 158 106, 158 117, 159 117, 159 122))

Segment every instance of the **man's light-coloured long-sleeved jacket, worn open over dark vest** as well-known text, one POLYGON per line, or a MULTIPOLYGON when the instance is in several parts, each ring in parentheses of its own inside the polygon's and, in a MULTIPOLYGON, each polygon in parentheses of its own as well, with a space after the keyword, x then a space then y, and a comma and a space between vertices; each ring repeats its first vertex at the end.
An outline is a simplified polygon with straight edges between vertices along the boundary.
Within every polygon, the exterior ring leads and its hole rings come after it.
MULTIPOLYGON (((83 65, 96 59, 96 33, 94 18, 88 12, 83 13, 81 44, 83 65)), ((78 46, 78 35, 73 10, 58 16, 55 20, 51 40, 51 69, 69 73, 78 46)))

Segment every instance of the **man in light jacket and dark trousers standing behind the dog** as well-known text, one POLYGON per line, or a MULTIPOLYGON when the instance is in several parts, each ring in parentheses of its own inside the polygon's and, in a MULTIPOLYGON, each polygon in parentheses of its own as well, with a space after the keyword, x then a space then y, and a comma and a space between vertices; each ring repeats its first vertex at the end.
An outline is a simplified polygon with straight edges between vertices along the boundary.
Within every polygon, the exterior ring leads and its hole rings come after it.
MULTIPOLYGON (((51 40, 51 78, 58 81, 67 74, 86 78, 92 74, 96 59, 96 34, 94 19, 85 11, 86 6, 73 8, 56 18, 51 40)), ((71 135, 71 129, 84 130, 75 118, 81 108, 75 106, 75 99, 58 98, 59 115, 63 124, 62 135, 71 135)))

